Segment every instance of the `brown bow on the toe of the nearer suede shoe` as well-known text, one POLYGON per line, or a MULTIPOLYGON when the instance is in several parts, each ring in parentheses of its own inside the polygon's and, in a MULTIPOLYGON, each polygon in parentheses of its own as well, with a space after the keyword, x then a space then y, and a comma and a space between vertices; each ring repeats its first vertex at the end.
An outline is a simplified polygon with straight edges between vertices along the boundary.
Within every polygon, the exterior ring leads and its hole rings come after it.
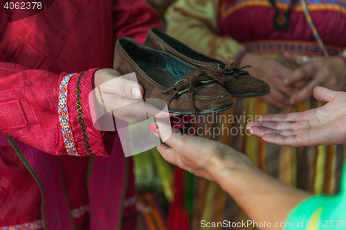
POLYGON ((194 87, 200 84, 215 82, 215 80, 220 82, 222 85, 228 81, 224 74, 217 74, 203 69, 194 69, 190 71, 183 77, 183 79, 177 81, 175 85, 172 85, 162 92, 163 94, 167 94, 172 91, 170 96, 167 98, 167 106, 169 106, 169 103, 175 96, 184 94, 186 91, 188 91, 188 99, 192 108, 192 115, 196 115, 197 111, 196 106, 194 105, 194 87), (186 89, 186 87, 188 87, 188 89, 186 89))

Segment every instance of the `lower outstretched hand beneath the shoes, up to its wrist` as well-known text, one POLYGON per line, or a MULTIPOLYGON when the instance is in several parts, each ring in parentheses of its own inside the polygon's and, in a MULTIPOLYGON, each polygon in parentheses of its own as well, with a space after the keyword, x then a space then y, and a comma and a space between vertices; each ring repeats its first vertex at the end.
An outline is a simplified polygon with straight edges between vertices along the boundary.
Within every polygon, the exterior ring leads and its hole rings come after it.
POLYGON ((158 129, 152 123, 150 130, 164 141, 157 150, 166 161, 199 177, 217 181, 220 172, 255 168, 244 154, 218 141, 183 135, 165 123, 158 123, 158 129))

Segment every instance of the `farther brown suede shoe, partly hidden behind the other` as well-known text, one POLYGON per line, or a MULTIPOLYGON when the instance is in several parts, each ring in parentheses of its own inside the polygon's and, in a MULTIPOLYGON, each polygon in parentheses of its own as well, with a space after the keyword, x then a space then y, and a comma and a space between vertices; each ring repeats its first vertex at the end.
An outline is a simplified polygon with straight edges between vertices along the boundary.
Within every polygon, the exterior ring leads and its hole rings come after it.
POLYGON ((263 80, 250 76, 247 71, 243 70, 246 67, 239 68, 234 62, 226 65, 220 60, 198 53, 158 28, 149 30, 143 45, 157 51, 170 53, 194 67, 226 76, 228 82, 223 86, 235 98, 251 98, 270 93, 271 87, 263 80))

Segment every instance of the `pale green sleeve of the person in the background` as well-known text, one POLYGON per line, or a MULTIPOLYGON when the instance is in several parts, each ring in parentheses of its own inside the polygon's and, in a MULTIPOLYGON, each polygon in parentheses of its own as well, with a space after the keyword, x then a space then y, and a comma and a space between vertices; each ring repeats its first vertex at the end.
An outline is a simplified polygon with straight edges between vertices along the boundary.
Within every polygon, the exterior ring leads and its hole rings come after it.
POLYGON ((178 0, 165 13, 166 33, 194 50, 226 64, 245 47, 232 37, 218 35, 219 0, 178 0))

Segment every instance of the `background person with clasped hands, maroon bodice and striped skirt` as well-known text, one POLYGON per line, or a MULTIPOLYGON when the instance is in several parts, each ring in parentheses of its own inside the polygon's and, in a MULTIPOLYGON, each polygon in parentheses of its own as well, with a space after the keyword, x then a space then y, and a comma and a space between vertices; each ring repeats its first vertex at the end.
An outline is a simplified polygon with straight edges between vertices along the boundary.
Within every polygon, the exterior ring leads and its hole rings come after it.
MULTIPOLYGON (((307 1, 307 8, 303 6, 294 0, 178 0, 166 12, 166 32, 226 64, 250 64, 252 68, 246 70, 271 85, 268 96, 237 98, 235 107, 216 115, 233 116, 239 122, 221 119, 219 124, 194 124, 205 130, 233 130, 228 135, 204 136, 245 152, 257 167, 285 184, 316 194, 335 194, 340 190, 342 172, 337 162, 345 161, 345 146, 281 147, 264 143, 257 136, 240 135, 256 115, 302 112, 320 106, 311 98, 316 85, 345 89, 345 1, 307 1)), ((193 197, 189 210, 193 213, 192 229, 199 229, 201 220, 246 220, 214 182, 195 177, 193 197)))

